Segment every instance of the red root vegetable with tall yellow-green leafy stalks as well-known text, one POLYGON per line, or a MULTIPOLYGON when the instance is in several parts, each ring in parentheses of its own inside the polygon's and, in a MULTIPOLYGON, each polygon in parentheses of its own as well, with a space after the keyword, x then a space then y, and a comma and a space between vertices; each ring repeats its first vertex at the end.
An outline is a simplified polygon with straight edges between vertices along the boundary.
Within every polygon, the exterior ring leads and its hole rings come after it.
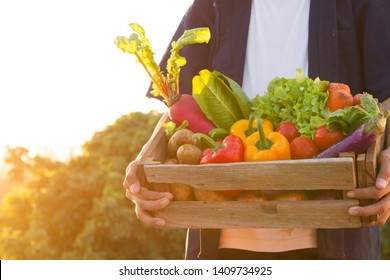
POLYGON ((186 30, 177 41, 172 42, 171 55, 167 61, 167 73, 164 74, 155 62, 152 46, 142 26, 135 23, 129 26, 135 33, 130 37, 118 36, 115 40, 118 48, 137 57, 152 80, 151 93, 163 98, 169 108, 169 116, 176 125, 187 120, 188 129, 192 132, 208 134, 215 125, 207 119, 191 95, 180 94, 180 68, 186 64, 186 59, 179 55, 179 51, 186 45, 208 43, 211 37, 210 30, 208 28, 186 30))

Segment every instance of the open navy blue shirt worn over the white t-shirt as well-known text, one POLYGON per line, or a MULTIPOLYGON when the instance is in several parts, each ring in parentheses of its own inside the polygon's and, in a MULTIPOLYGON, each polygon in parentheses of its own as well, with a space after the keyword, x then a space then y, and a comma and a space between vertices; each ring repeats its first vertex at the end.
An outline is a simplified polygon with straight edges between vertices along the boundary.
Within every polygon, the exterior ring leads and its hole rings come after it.
MULTIPOLYGON (((251 0, 195 0, 172 40, 195 27, 209 27, 209 44, 181 51, 181 93, 191 94, 192 78, 202 69, 218 70, 242 84, 251 0)), ((309 73, 348 84, 353 94, 390 96, 390 1, 311 0, 309 73)), ((169 52, 162 58, 162 69, 169 52)), ((319 229, 322 259, 379 259, 379 227, 319 229)), ((219 230, 189 230, 186 258, 216 259, 219 230)))

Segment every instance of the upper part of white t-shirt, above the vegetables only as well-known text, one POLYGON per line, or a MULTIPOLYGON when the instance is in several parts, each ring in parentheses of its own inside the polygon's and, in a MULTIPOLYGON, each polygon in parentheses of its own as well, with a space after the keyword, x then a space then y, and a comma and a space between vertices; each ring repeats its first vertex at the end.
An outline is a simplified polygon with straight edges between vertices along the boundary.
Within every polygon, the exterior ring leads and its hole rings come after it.
POLYGON ((308 72, 310 0, 253 0, 243 90, 263 94, 275 78, 308 72))

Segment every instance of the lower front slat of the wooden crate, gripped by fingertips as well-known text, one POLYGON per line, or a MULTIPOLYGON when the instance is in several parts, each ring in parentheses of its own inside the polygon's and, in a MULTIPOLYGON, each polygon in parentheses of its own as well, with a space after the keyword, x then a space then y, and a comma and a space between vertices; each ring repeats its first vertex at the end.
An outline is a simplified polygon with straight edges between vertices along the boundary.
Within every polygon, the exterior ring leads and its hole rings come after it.
POLYGON ((172 202, 155 213, 171 228, 357 228, 356 200, 172 202))

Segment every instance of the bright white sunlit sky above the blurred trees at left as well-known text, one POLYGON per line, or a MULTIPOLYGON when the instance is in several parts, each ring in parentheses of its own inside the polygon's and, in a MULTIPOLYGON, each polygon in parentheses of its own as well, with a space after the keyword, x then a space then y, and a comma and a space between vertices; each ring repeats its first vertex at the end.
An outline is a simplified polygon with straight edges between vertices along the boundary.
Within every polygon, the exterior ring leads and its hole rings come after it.
POLYGON ((0 157, 5 145, 64 160, 132 111, 164 111, 149 78, 114 45, 146 31, 159 61, 191 0, 0 2, 0 157))

